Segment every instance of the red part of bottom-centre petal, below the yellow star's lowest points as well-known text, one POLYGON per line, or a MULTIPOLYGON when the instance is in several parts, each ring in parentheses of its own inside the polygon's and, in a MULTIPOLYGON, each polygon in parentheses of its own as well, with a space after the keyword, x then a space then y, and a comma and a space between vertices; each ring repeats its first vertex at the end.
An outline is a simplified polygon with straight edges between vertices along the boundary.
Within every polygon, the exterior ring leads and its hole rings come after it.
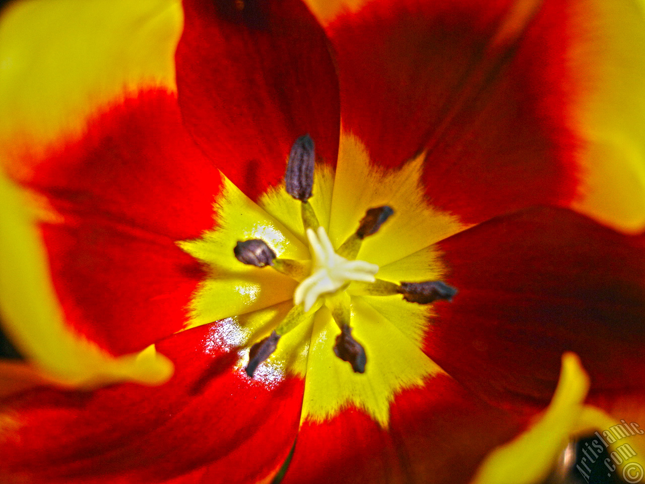
POLYGON ((438 376, 395 398, 387 430, 354 409, 304 423, 283 484, 467 483, 517 430, 507 414, 438 376))

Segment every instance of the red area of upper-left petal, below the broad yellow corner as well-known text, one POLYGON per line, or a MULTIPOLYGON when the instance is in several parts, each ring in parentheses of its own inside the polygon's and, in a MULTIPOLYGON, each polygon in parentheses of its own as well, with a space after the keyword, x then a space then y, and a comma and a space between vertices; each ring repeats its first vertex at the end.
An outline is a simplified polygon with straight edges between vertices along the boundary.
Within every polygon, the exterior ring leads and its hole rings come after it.
POLYGON ((57 212, 97 217, 166 239, 198 237, 213 225, 221 176, 184 130, 177 100, 146 90, 106 106, 83 136, 61 139, 23 185, 57 212))

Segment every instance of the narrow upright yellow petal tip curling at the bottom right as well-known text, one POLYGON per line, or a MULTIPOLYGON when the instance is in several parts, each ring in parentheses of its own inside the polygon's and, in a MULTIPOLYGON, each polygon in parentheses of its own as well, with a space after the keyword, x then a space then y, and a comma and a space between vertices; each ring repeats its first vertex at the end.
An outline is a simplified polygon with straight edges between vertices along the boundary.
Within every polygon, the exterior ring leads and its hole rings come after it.
POLYGON ((576 429, 589 378, 573 353, 562 356, 553 399, 542 417, 523 434, 493 450, 472 484, 534 484, 548 476, 576 429))

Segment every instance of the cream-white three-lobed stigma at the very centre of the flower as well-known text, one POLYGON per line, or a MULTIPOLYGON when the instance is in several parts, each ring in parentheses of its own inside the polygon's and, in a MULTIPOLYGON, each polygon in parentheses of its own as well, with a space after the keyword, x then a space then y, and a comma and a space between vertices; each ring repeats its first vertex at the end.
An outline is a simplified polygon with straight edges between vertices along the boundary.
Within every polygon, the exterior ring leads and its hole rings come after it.
POLYGON ((348 261, 336 254, 323 227, 318 227, 318 235, 308 228, 307 238, 313 258, 312 274, 293 294, 296 304, 304 302, 305 311, 310 310, 320 296, 336 292, 346 283, 376 281, 374 276, 379 272, 379 266, 366 261, 348 261))

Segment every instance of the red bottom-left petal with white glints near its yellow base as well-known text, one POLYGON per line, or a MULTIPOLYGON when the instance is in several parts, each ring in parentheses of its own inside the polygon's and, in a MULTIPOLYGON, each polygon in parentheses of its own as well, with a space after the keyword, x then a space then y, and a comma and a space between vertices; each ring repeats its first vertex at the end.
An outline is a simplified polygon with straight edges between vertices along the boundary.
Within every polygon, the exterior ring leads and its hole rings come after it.
POLYGON ((251 381, 231 369, 237 352, 220 345, 208 325, 161 342, 176 368, 161 387, 42 389, 5 401, 15 425, 3 430, 0 474, 37 483, 156 482, 209 465, 206 482, 264 478, 292 448, 303 381, 251 381))

